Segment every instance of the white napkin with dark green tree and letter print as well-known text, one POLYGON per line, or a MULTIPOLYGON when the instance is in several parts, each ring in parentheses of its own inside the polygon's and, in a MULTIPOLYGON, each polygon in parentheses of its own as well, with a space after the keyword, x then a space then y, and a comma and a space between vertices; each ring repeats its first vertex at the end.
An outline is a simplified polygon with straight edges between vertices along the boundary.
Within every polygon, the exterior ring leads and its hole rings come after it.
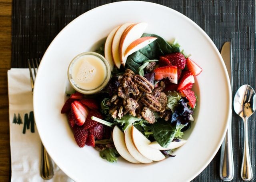
POLYGON ((73 182, 54 164, 54 177, 40 176, 41 141, 34 124, 29 70, 8 70, 12 182, 73 182))

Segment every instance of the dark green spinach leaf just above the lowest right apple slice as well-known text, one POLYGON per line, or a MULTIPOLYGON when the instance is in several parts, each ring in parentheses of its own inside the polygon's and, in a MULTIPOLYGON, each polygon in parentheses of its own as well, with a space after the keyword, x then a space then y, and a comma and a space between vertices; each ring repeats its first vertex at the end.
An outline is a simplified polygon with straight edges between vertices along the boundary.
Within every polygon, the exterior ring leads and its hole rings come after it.
POLYGON ((164 120, 158 120, 152 124, 152 132, 156 141, 162 146, 167 147, 174 138, 181 138, 183 132, 181 129, 185 125, 172 126, 170 123, 164 120))

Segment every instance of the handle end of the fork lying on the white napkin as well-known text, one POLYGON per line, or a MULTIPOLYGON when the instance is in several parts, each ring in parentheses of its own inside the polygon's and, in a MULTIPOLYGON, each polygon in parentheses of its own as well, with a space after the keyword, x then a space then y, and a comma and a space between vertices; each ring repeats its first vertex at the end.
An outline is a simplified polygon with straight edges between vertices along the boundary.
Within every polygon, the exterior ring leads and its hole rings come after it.
POLYGON ((41 177, 44 180, 50 180, 50 179, 52 179, 52 177, 54 175, 52 159, 50 158, 49 154, 45 150, 43 144, 42 144, 41 154, 42 154, 42 156, 41 156, 41 177))

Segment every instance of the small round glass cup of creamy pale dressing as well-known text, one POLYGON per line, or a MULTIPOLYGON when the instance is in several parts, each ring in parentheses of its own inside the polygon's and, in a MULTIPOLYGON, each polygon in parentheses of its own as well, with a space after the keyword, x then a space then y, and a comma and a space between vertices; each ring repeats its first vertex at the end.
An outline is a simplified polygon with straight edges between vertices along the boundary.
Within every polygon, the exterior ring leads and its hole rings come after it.
POLYGON ((68 66, 68 80, 82 94, 102 90, 108 84, 110 74, 108 61, 96 52, 78 54, 68 66))

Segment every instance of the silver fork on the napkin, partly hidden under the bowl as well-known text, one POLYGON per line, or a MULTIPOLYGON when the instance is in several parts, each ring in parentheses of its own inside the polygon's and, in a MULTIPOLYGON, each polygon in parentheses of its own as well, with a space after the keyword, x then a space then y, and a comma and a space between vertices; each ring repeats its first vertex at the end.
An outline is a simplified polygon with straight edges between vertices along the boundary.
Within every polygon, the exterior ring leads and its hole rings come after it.
MULTIPOLYGON (((29 68, 29 73, 30 73, 30 84, 31 84, 31 88, 32 88, 32 92, 34 91, 34 83, 35 83, 35 79, 36 79, 36 72, 37 72, 37 68, 40 64, 40 59, 39 62, 37 59, 35 59, 35 63, 34 60, 31 59, 31 63, 30 60, 28 59, 28 68, 29 68), (31 66, 32 63, 32 66, 31 66), (34 73, 34 75, 33 75, 34 73)), ((42 142, 41 142, 42 144, 42 142)), ((41 151, 41 177, 44 180, 50 180, 52 179, 54 175, 54 171, 53 171, 53 165, 52 165, 52 159, 49 156, 49 154, 47 153, 47 151, 44 148, 44 145, 42 144, 42 151, 41 151)))

